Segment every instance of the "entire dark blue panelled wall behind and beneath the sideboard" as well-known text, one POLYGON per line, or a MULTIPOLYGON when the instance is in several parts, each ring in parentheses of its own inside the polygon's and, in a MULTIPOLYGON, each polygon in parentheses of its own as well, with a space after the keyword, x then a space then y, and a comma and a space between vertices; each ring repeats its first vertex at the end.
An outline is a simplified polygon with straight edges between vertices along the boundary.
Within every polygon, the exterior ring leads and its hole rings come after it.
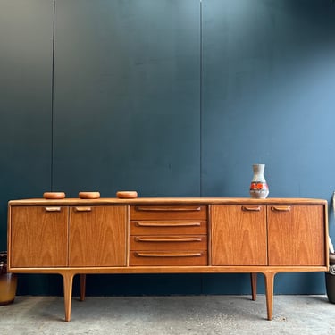
MULTIPOLYGON (((335 236, 334 37, 331 0, 1 1, 0 248, 10 199, 248 197, 253 163, 270 197, 329 200, 335 236)), ((88 277, 88 295, 247 292, 247 274, 88 277)), ((275 284, 323 292, 322 273, 275 284)))

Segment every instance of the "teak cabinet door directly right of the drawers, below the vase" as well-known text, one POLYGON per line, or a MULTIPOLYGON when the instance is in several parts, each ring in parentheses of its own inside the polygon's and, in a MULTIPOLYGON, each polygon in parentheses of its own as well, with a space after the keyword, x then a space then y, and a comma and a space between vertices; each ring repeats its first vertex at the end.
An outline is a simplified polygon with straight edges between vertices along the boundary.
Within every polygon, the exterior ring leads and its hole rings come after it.
POLYGON ((263 205, 211 206, 212 265, 266 265, 263 205))

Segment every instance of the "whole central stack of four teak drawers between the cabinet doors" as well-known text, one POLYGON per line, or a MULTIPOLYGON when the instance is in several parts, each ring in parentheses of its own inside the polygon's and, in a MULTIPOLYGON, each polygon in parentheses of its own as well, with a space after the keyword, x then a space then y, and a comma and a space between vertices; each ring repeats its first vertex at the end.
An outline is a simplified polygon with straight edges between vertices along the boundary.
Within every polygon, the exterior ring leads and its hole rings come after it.
POLYGON ((130 206, 130 266, 207 265, 206 205, 130 206))

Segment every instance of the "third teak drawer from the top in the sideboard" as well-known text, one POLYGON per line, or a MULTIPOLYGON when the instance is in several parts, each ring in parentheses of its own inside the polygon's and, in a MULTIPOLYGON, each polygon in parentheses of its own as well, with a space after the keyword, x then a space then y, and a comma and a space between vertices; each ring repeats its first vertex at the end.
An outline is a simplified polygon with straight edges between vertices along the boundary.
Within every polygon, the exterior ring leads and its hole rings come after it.
POLYGON ((207 236, 130 236, 130 250, 207 250, 207 236))

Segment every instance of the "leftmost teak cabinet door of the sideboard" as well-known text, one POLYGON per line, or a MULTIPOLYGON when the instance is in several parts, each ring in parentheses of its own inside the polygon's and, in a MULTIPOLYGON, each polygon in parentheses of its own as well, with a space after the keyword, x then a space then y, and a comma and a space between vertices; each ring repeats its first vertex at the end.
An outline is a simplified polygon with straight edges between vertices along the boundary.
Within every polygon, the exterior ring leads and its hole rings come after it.
POLYGON ((68 207, 14 206, 10 215, 11 267, 67 265, 68 207))

